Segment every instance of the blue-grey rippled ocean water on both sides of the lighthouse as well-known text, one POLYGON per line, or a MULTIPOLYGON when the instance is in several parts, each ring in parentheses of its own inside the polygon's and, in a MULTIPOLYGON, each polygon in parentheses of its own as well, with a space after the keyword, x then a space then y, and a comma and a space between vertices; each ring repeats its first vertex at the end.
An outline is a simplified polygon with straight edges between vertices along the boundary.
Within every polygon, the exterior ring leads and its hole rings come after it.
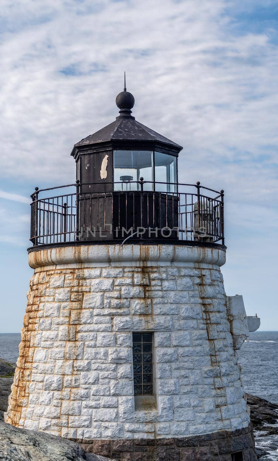
MULTIPOLYGON (((19 343, 20 333, 0 333, 0 357, 16 362, 19 343)), ((278 331, 250 333, 238 357, 245 391, 278 403, 278 331)), ((268 453, 260 461, 278 461, 278 436, 264 434, 255 432, 256 446, 268 453)))

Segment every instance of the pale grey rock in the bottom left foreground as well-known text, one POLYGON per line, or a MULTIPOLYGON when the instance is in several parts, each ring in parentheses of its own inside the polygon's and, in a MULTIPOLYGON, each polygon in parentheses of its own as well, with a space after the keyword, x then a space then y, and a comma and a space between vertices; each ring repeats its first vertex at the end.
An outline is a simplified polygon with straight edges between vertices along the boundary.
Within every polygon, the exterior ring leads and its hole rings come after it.
POLYGON ((104 456, 85 454, 78 443, 45 432, 18 429, 3 422, 0 422, 0 460, 108 461, 104 456))

